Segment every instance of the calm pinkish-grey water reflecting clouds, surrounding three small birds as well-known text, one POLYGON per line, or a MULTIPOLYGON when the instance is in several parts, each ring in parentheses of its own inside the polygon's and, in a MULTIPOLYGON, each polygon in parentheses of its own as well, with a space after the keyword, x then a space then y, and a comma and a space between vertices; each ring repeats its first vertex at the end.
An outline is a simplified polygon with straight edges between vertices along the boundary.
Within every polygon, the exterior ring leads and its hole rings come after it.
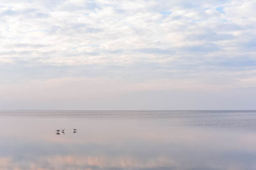
POLYGON ((256 111, 0 111, 0 129, 1 170, 256 169, 256 111))

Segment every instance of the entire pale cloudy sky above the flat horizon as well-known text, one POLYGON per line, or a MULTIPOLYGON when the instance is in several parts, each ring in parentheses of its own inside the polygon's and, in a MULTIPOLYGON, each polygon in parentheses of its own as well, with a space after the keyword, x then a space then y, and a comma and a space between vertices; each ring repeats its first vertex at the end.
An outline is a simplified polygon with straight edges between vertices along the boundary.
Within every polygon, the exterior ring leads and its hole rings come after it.
POLYGON ((0 110, 256 110, 255 9, 1 0, 0 110))

